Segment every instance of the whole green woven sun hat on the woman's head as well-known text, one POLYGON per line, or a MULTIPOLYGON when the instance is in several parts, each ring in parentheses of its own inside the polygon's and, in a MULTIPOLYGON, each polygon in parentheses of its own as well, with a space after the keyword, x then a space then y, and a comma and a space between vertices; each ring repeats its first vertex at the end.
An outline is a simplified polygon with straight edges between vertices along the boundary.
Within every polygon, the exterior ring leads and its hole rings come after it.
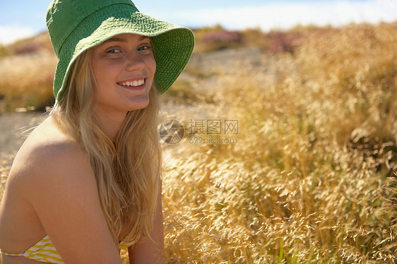
POLYGON ((73 61, 85 50, 122 33, 150 37, 156 61, 155 87, 168 90, 194 48, 189 28, 151 18, 130 0, 54 0, 47 10, 49 37, 58 56, 54 95, 64 94, 73 61))

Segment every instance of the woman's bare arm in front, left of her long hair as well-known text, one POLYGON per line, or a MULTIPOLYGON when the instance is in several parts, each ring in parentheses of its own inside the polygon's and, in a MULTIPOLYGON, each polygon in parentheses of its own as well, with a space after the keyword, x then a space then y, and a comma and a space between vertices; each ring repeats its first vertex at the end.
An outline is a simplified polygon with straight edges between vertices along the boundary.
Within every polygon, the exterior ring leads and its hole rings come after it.
POLYGON ((22 193, 65 263, 121 264, 85 153, 74 143, 41 146, 21 167, 22 193), (25 176, 23 176, 25 174, 25 176))

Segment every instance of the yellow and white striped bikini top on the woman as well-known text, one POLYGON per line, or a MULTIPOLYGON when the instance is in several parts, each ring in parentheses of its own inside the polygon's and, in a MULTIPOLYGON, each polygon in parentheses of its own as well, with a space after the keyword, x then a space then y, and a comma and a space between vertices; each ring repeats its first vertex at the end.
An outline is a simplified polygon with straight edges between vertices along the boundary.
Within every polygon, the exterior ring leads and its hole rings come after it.
MULTIPOLYGON (((126 243, 122 241, 119 244, 119 248, 128 248, 133 244, 134 243, 126 243)), ((24 256, 25 258, 45 263, 64 264, 64 260, 59 256, 59 253, 54 247, 54 244, 52 244, 52 241, 49 239, 49 236, 45 236, 42 240, 38 241, 35 245, 25 251, 25 253, 6 253, 1 250, 0 253, 4 256, 24 256)))

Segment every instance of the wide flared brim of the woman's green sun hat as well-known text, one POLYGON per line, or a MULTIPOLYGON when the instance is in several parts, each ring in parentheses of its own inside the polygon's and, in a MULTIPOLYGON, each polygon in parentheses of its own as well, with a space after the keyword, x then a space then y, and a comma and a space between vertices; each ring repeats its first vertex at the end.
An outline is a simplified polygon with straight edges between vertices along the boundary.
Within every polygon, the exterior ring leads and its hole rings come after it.
POLYGON ((57 101, 64 94, 73 61, 85 50, 122 33, 151 38, 156 61, 154 84, 160 94, 177 80, 194 48, 194 35, 189 28, 151 18, 127 4, 101 8, 75 28, 60 49, 54 76, 57 101))

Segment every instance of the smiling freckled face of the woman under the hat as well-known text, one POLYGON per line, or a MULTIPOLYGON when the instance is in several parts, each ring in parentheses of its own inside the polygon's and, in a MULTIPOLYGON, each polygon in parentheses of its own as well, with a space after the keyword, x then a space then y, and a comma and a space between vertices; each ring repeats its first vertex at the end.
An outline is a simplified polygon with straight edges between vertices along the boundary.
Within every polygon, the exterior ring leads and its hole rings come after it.
POLYGON ((93 47, 95 111, 126 112, 148 106, 155 75, 149 37, 120 34, 93 47))

